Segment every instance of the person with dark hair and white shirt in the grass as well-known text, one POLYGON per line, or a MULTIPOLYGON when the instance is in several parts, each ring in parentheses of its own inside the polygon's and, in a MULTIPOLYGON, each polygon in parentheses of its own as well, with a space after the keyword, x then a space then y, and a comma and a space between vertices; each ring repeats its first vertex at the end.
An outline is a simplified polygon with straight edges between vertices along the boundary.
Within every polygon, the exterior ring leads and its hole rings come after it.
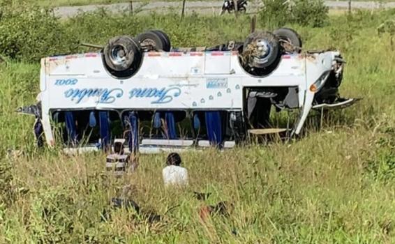
POLYGON ((165 186, 188 185, 188 171, 181 167, 181 157, 178 153, 170 153, 167 156, 166 167, 162 170, 165 186))

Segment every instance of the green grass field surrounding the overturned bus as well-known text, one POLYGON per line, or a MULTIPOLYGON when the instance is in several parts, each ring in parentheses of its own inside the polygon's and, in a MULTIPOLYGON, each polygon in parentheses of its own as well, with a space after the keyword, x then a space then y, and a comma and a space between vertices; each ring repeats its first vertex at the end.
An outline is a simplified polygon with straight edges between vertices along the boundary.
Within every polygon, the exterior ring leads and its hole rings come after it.
MULTIPOLYGON (((326 114, 320 130, 312 116, 292 142, 183 153, 191 181, 184 190, 163 187, 165 155, 142 155, 134 174, 115 180, 105 175, 103 153, 37 150, 33 119, 14 110, 34 101, 38 62, 7 59, 0 64, 0 243, 395 243, 395 47, 376 31, 393 17, 357 13, 322 28, 292 26, 307 48, 343 52, 341 94, 364 99, 326 114), (8 148, 24 155, 7 157, 8 148), (155 224, 125 210, 101 220, 123 185, 133 185, 131 197, 145 211, 179 206, 155 224), (212 192, 207 204, 231 201, 230 217, 200 220, 204 203, 194 190, 212 192)), ((248 34, 248 17, 230 26, 231 18, 92 14, 61 28, 91 43, 156 28, 175 46, 212 45, 248 34)))

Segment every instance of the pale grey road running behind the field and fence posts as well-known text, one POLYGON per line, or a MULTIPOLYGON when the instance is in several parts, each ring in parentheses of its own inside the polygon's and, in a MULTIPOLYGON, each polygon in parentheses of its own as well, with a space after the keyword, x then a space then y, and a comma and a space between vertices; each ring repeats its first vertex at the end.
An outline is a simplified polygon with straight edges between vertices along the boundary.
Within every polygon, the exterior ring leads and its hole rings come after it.
MULTIPOLYGON (((221 10, 223 1, 186 1, 186 14, 218 14, 221 10)), ((329 8, 348 8, 348 1, 325 1, 329 8)), ((137 2, 133 3, 134 13, 149 13, 156 11, 158 13, 169 13, 172 11, 181 11, 181 1, 153 1, 151 3, 137 2)), ((260 1, 250 1, 247 6, 247 12, 256 11, 260 6, 260 1)), ((105 8, 111 13, 121 13, 124 10, 130 10, 130 3, 114 3, 110 5, 89 5, 89 6, 72 6, 59 7, 54 9, 55 15, 67 18, 77 15, 80 11, 89 12, 99 8, 105 8)), ((375 1, 353 1, 352 8, 377 9, 377 8, 395 8, 395 2, 378 3, 375 1)))

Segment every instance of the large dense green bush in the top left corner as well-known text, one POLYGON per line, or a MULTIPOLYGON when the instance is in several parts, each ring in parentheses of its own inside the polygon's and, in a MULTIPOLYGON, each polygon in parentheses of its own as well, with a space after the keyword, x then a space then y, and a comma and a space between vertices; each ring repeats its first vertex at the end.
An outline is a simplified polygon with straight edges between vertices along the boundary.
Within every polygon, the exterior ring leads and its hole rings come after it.
POLYGON ((0 52, 12 59, 36 61, 68 52, 75 43, 49 9, 1 1, 0 52))

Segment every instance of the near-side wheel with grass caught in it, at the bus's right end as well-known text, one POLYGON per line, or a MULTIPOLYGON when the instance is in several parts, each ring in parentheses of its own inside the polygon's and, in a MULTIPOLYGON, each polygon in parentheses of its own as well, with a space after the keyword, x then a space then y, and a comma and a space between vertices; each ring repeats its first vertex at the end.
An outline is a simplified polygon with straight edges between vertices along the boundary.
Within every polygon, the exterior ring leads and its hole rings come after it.
POLYGON ((251 33, 243 45, 241 54, 243 63, 251 68, 272 68, 280 56, 278 38, 267 31, 251 33), (263 51, 262 51, 263 50, 263 51))

